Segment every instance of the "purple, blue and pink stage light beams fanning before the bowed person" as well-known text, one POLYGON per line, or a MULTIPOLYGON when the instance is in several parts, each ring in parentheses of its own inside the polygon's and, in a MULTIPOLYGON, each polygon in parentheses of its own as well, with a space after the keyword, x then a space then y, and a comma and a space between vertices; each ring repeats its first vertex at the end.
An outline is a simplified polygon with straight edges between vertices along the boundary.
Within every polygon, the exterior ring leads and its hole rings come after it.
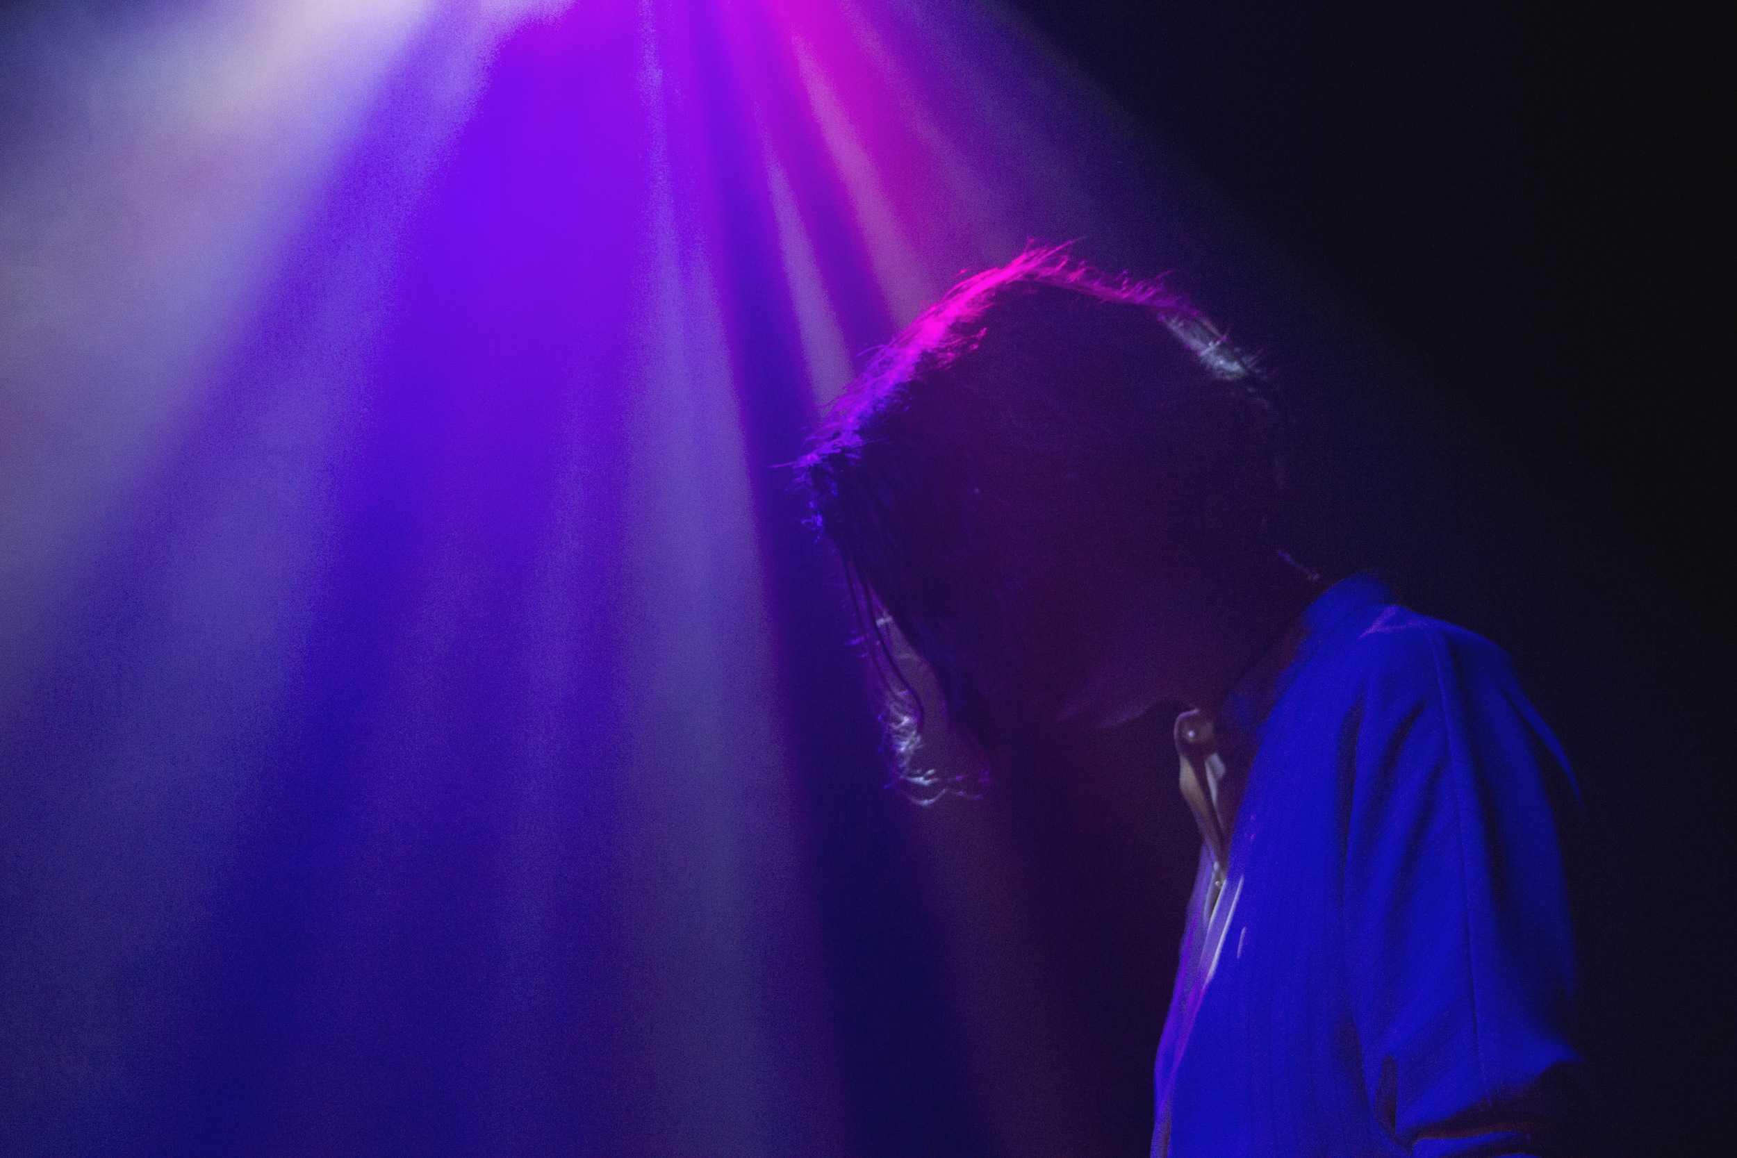
POLYGON ((1192 229, 1139 142, 976 3, 191 7, 14 33, 43 1144, 1018 1153, 1020 1035, 1089 1068, 985 965, 1006 833, 881 790, 780 464, 961 269, 1192 229))

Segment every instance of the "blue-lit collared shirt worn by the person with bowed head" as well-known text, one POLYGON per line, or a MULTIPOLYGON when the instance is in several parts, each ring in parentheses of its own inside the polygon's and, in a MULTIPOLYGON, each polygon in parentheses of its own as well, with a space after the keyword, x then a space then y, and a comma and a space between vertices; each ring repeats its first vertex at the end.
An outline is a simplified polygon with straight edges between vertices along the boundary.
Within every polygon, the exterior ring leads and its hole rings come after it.
POLYGON ((1178 745, 1209 839, 1152 1153, 1555 1153, 1579 795, 1503 651, 1357 575, 1178 745))

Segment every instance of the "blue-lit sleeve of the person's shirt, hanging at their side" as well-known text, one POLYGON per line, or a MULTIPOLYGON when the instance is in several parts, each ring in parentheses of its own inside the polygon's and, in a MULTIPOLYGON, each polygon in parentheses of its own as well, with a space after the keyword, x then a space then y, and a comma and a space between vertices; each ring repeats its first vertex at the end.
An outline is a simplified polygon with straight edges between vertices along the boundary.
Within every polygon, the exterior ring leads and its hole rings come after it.
POLYGON ((1370 1106, 1417 1158, 1562 1153, 1577 788, 1494 644, 1433 622, 1364 642, 1343 948, 1370 1106))

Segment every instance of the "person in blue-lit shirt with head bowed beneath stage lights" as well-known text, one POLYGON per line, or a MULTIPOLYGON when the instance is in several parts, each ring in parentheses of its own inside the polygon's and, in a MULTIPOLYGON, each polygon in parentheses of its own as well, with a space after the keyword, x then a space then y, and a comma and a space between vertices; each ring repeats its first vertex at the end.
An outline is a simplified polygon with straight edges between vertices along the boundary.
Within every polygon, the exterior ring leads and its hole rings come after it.
POLYGON ((1181 295, 1030 248, 879 351, 797 469, 900 774, 933 783, 924 708, 997 769, 1186 705, 1155 1156, 1563 1153, 1575 781, 1494 644, 1284 550, 1285 460, 1261 368, 1181 295))

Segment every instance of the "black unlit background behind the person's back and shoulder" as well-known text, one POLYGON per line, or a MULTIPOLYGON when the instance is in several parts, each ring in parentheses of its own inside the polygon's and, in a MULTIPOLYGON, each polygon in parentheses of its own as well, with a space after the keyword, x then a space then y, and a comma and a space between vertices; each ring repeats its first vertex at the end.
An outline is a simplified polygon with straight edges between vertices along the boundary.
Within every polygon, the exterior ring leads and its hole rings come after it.
MULTIPOLYGON (((1598 1135, 1711 1153, 1730 519, 1702 33, 1633 5, 1016 7, 1388 340, 1303 384, 1344 432, 1360 554, 1503 642, 1577 764, 1598 1135)), ((1331 328, 1285 337, 1280 377, 1344 361, 1331 328)))

